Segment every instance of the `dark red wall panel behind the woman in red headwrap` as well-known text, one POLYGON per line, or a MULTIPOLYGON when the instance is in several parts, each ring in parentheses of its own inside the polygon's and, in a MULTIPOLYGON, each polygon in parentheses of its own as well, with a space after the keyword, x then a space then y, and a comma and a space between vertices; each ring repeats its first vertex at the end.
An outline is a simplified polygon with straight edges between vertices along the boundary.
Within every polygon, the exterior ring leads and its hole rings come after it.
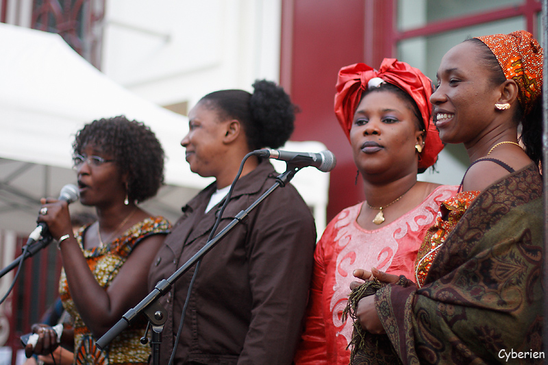
POLYGON ((280 83, 299 105, 292 140, 319 140, 337 158, 327 219, 364 199, 349 142, 333 111, 338 70, 364 59, 364 0, 282 1, 280 83))

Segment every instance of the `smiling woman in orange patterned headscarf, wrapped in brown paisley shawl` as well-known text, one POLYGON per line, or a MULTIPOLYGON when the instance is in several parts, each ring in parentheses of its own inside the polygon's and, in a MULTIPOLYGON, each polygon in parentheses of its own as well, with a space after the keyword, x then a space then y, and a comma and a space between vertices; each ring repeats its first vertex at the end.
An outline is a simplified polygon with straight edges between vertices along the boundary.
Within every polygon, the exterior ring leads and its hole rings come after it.
POLYGON ((351 316, 365 340, 353 364, 369 364, 375 346, 393 351, 381 361, 403 364, 544 361, 542 83, 543 49, 524 31, 444 55, 434 123, 443 142, 464 144, 471 165, 419 250, 416 284, 356 273, 366 284, 352 285, 351 316), (360 296, 373 277, 384 286, 360 296))

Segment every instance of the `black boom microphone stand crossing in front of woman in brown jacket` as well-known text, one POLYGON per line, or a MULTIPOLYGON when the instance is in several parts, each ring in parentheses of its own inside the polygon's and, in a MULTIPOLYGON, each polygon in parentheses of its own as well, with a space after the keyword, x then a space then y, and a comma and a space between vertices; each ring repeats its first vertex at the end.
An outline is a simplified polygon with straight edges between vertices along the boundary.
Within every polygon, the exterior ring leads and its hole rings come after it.
POLYGON ((152 327, 151 364, 160 365, 160 344, 162 343, 164 323, 166 323, 167 320, 167 311, 164 306, 160 304, 158 299, 166 294, 166 292, 170 290, 173 283, 177 281, 181 275, 186 273, 190 267, 196 264, 196 262, 201 260, 201 258, 206 255, 206 253, 208 253, 235 225, 245 219, 251 210, 266 199, 266 197, 268 197, 276 188, 279 186, 282 186, 282 188, 286 186, 292 177, 295 176, 295 173, 297 173, 297 171, 301 168, 302 166, 295 166, 288 162, 286 172, 276 177, 275 183, 271 186, 271 188, 269 188, 269 190, 266 190, 266 192, 264 192, 256 201, 249 205, 246 210, 242 210, 236 214, 236 218, 234 218, 232 222, 223 228, 214 238, 209 240, 197 253, 195 253, 195 255, 190 257, 190 259, 188 259, 183 266, 178 268, 169 278, 159 281, 154 289, 147 295, 147 297, 145 297, 145 299, 142 299, 138 305, 128 310, 116 323, 116 325, 111 327, 101 338, 99 338, 99 340, 97 340, 97 342, 95 342, 97 347, 101 350, 107 347, 108 344, 116 338, 116 336, 129 327, 138 314, 142 313, 147 316, 152 327))

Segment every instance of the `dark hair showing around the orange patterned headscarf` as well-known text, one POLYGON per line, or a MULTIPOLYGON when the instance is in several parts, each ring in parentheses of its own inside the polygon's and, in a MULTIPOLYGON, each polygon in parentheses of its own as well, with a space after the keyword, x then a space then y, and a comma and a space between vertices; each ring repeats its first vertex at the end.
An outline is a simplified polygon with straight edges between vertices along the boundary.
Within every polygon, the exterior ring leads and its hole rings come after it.
MULTIPOLYGON (((484 42, 477 38, 469 38, 464 40, 464 42, 473 42, 476 45, 479 45, 479 49, 482 51, 479 55, 480 60, 482 60, 484 66, 490 71, 488 77, 494 86, 498 86, 506 81, 506 76, 502 71, 497 57, 484 42)), ((541 93, 540 97, 534 101, 532 110, 529 114, 524 114, 523 108, 517 103, 516 112, 514 114, 514 120, 518 125, 521 125, 521 135, 519 136, 519 139, 523 142, 525 153, 527 153, 527 156, 536 164, 540 162, 543 155, 542 100, 543 95, 541 93)))

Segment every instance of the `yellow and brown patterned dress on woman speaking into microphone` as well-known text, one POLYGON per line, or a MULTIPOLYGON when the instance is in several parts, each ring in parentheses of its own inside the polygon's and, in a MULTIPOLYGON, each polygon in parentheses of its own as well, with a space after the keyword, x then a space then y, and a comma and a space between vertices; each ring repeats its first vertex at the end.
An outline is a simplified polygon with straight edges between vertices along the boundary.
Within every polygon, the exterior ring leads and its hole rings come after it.
MULTIPOLYGON (((83 238, 88 227, 79 229, 76 239, 93 276, 105 290, 139 242, 155 234, 169 234, 171 229, 169 222, 162 216, 149 217, 127 229, 105 247, 84 250, 83 238)), ((146 320, 132 324, 101 351, 95 346, 95 338, 79 316, 64 269, 61 271, 59 292, 65 310, 74 318, 74 364, 148 363, 150 347, 140 343, 140 338, 145 334, 146 320)))

